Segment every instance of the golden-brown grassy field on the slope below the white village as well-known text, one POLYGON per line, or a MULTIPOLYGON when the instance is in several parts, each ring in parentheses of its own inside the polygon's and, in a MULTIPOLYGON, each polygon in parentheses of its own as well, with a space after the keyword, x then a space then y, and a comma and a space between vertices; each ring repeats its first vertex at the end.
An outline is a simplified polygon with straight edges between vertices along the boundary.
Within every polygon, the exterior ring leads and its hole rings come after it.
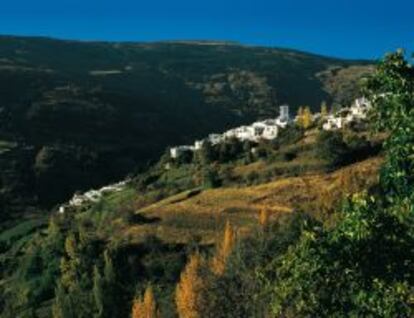
POLYGON ((319 200, 323 190, 341 192, 343 176, 351 172, 357 171, 369 180, 366 185, 372 184, 381 161, 373 158, 330 174, 290 177, 258 186, 211 189, 191 197, 183 192, 141 209, 138 213, 158 221, 130 226, 124 234, 134 240, 153 234, 173 243, 186 243, 197 237, 202 243, 210 244, 227 220, 239 232, 248 232, 259 226, 262 209, 266 208, 272 219, 298 206, 309 206, 319 200))

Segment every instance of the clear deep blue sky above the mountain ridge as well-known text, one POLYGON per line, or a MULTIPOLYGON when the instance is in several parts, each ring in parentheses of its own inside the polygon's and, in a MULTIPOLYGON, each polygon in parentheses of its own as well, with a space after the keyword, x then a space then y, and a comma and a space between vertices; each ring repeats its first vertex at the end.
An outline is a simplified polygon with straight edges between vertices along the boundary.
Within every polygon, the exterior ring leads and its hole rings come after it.
POLYGON ((413 0, 2 0, 0 34, 233 40, 346 58, 414 50, 413 0))

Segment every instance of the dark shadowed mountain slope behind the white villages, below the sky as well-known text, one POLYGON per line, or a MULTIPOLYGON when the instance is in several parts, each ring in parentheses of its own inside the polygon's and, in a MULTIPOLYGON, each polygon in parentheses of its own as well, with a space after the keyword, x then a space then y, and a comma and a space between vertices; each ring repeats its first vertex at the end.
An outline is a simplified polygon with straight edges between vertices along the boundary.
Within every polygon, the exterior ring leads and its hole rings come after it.
POLYGON ((281 103, 346 104, 370 70, 235 43, 1 36, 0 205, 50 207, 142 169, 169 145, 275 116, 281 103))

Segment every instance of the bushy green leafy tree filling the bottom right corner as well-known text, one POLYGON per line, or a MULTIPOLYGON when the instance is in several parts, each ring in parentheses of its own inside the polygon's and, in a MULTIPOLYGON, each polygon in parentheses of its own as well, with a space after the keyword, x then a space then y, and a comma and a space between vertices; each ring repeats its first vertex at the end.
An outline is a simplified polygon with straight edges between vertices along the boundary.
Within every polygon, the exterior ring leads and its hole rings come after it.
POLYGON ((414 283, 409 252, 414 239, 407 236, 407 226, 378 212, 368 196, 354 197, 343 213, 336 228, 305 231, 299 244, 276 261, 274 313, 411 316, 407 286, 414 283))

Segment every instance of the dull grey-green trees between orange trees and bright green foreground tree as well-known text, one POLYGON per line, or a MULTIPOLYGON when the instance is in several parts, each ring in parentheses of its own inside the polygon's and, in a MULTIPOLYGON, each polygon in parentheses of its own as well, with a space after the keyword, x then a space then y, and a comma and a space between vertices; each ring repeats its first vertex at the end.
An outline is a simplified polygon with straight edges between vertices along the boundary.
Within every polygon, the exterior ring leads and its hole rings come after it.
POLYGON ((202 316, 267 317, 270 293, 267 279, 273 277, 268 264, 283 254, 300 236, 303 214, 292 213, 256 229, 248 239, 236 243, 221 275, 204 273, 205 308, 202 316))

